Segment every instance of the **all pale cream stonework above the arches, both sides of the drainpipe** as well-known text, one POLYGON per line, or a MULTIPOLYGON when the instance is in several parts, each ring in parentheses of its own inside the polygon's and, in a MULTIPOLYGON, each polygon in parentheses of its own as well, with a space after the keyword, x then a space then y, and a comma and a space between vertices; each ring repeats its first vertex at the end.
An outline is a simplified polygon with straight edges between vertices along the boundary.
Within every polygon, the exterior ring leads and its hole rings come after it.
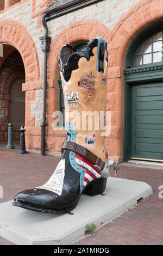
MULTIPOLYGON (((32 36, 40 62, 40 71, 42 69, 43 54, 40 49, 39 36, 44 34, 43 28, 38 29, 38 16, 32 19, 32 2, 29 0, 20 5, 13 5, 12 9, 0 12, 0 20, 14 20, 21 23, 32 36)), ((39 9, 39 5, 42 0, 36 1, 36 10, 39 9)), ((60 1, 58 1, 60 2, 60 1)), ((118 22, 120 17, 123 16, 131 7, 141 2, 141 0, 105 0, 97 4, 92 4, 88 7, 79 9, 65 16, 58 17, 57 19, 48 21, 49 36, 54 40, 55 36, 62 31, 66 26, 73 22, 80 20, 97 20, 103 23, 109 29, 112 29, 118 22)), ((41 13, 40 13, 41 14, 41 13)), ((40 15, 41 16, 41 15, 40 15)))

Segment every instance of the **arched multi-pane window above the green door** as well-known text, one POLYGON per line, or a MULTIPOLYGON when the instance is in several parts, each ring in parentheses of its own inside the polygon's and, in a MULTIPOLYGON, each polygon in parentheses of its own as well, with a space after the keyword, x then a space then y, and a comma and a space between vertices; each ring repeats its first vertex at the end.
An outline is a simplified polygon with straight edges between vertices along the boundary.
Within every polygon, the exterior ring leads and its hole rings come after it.
POLYGON ((162 31, 143 41, 134 55, 133 66, 162 62, 162 31))

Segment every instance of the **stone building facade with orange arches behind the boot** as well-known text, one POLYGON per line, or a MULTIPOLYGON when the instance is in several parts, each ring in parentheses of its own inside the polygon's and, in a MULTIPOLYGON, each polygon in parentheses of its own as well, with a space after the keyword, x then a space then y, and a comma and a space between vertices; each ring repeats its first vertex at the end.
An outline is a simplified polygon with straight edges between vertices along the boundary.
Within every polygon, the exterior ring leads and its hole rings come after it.
MULTIPOLYGON (((62 7, 68 4, 58 2, 62 7)), ((163 0, 73 2, 79 7, 47 20, 51 45, 47 59, 46 151, 57 154, 65 141, 65 131, 52 127, 53 113, 64 111, 59 51, 65 44, 84 50, 87 41, 100 36, 109 47, 106 110, 111 112, 111 132, 105 138, 109 160, 163 161, 163 0)), ((45 34, 42 12, 54 3, 0 0, 0 142, 7 141, 9 122, 14 124, 15 141, 18 128, 25 122, 26 148, 40 150, 43 53, 39 37, 45 34)))

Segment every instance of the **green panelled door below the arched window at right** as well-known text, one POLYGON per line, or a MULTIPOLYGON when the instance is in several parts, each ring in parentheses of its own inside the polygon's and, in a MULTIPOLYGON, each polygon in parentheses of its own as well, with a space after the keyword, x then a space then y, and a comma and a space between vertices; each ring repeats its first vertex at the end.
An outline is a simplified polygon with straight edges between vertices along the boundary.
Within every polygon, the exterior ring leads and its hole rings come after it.
POLYGON ((131 89, 131 159, 163 161, 163 82, 131 89))

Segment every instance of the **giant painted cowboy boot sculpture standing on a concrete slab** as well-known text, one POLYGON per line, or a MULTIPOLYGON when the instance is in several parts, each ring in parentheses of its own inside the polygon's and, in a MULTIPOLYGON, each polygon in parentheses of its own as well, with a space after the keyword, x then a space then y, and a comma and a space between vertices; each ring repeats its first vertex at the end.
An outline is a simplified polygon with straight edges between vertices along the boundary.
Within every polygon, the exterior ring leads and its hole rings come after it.
POLYGON ((105 190, 110 167, 101 123, 106 109, 108 50, 104 39, 93 39, 86 50, 64 46, 59 64, 65 99, 66 141, 61 159, 45 185, 17 194, 13 205, 63 213, 74 209, 82 193, 95 196, 105 190), (93 118, 87 116, 93 114, 93 118), (91 125, 91 129, 89 129, 91 125))

